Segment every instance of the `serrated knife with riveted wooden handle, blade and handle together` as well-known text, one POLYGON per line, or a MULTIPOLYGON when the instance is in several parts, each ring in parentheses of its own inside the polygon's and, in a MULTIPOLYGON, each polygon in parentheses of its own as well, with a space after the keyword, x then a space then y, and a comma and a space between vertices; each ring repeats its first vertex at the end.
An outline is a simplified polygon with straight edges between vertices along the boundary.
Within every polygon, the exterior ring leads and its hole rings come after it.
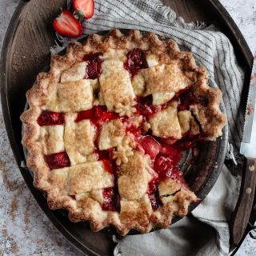
POLYGON ((250 88, 246 104, 246 118, 240 154, 246 157, 242 174, 242 183, 237 205, 231 224, 231 236, 235 245, 241 240, 249 222, 254 202, 256 186, 256 62, 250 79, 250 88))

